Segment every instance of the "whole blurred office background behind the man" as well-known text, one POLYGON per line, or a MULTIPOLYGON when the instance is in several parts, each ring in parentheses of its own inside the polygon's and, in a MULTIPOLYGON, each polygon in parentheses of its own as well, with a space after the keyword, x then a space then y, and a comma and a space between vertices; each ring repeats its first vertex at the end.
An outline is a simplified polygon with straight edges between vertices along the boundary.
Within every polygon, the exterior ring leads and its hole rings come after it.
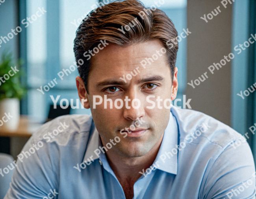
MULTIPOLYGON (((81 108, 81 103, 77 100, 75 77, 78 76, 78 71, 72 71, 70 66, 75 61, 73 41, 76 29, 87 13, 98 7, 100 2, 101 0, 0 1, 0 64, 7 59, 3 55, 11 52, 11 61, 6 66, 9 68, 20 65, 22 73, 19 84, 24 90, 20 95, 3 95, 0 98, 3 101, 2 106, 0 102, 0 119, 6 110, 15 109, 13 114, 17 115, 13 123, 9 121, 9 127, 8 122, 4 122, 3 126, 6 127, 0 129, 0 153, 11 154, 16 159, 31 134, 45 121, 62 114, 90 114, 90 110, 81 108), (12 32, 17 26, 22 31, 18 28, 15 33, 12 32), (18 31, 20 32, 17 33, 18 31), (58 76, 61 71, 62 78, 58 76), (12 102, 11 99, 18 101, 12 102), (63 100, 61 104, 61 99, 67 100, 63 100), (54 100, 57 101, 57 109, 51 106, 54 100), (65 109, 59 107, 60 104, 65 109)), ((232 4, 226 1, 225 6, 225 2, 222 4, 221 0, 142 2, 148 7, 155 5, 165 11, 173 20, 178 35, 187 28, 191 32, 179 42, 176 67, 179 83, 177 98, 180 101, 174 102, 174 105, 185 108, 184 101, 191 99, 189 104, 192 109, 220 120, 242 135, 248 133, 247 142, 256 157, 255 136, 250 131, 254 130, 253 125, 256 129, 256 92, 249 92, 249 96, 243 94, 244 99, 237 95, 256 83, 255 44, 237 47, 242 49, 239 54, 234 50, 235 46, 248 41, 250 34, 256 33, 255 0, 230 0, 232 4), (221 12, 216 15, 218 6, 221 12), (212 11, 216 16, 208 15, 212 11), (204 15, 208 22, 202 19, 204 15), (230 53, 234 53, 235 58, 211 74, 208 67, 213 63, 220 63, 230 53), (191 80, 194 82, 205 72, 208 78, 200 85, 193 88, 187 84, 191 80)), ((0 93, 5 84, 8 84, 7 81, 0 85, 0 93)))

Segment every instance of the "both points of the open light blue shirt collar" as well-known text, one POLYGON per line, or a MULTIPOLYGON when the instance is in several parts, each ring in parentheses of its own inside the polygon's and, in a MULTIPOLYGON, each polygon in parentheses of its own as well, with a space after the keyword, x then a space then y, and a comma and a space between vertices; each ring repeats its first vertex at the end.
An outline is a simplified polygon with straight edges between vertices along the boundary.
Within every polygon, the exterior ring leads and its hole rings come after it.
MULTIPOLYGON (((85 152, 85 156, 83 158, 83 162, 89 162, 90 159, 96 160, 99 158, 94 153, 94 151, 98 149, 99 146, 102 146, 102 144, 100 140, 100 135, 95 127, 94 122, 91 125, 90 134, 91 136, 89 136, 89 141, 87 144, 87 149, 85 152), (90 158, 91 156, 93 157, 90 158)), ((172 152, 172 149, 176 149, 178 151, 178 149, 175 147, 176 144, 178 144, 178 125, 176 118, 170 112, 169 122, 164 131, 163 140, 161 142, 160 149, 154 161, 154 164, 156 166, 159 165, 157 166, 157 169, 168 173, 173 173, 175 175, 177 174, 178 154, 174 154, 172 152), (168 158, 168 152, 171 152, 173 156, 169 155, 170 158, 168 158), (166 158, 164 159, 164 157, 166 158)), ((100 153, 100 155, 102 155, 102 153, 100 153)))

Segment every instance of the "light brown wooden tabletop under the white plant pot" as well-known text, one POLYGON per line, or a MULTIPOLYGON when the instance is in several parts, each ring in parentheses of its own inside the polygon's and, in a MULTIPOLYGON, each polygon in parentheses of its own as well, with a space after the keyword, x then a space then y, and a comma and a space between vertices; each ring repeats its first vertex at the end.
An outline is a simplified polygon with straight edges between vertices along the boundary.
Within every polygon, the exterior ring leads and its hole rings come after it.
POLYGON ((4 127, 0 127, 0 137, 27 137, 29 138, 39 127, 41 123, 33 122, 28 116, 21 116, 19 127, 15 131, 9 131, 4 127))

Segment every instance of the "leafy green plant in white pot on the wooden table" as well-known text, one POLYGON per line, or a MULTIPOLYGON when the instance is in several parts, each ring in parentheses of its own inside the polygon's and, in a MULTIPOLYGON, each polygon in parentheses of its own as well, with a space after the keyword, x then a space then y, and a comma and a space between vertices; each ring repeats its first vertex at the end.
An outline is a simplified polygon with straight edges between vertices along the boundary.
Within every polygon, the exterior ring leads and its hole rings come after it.
POLYGON ((15 131, 20 119, 20 99, 25 94, 20 77, 24 75, 20 71, 19 60, 13 64, 12 53, 4 52, 0 61, 0 126, 9 131, 15 131), (5 116, 5 117, 4 117, 5 116))

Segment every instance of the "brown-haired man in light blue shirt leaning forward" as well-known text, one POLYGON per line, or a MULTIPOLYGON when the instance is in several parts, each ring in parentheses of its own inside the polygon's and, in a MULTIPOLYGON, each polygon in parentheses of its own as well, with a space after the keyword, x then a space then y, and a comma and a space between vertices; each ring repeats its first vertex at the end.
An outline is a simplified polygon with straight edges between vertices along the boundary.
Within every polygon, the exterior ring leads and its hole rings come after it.
POLYGON ((91 12, 74 53, 78 95, 92 115, 43 125, 18 156, 6 199, 254 199, 243 136, 170 105, 176 40, 165 13, 135 0, 91 12))

